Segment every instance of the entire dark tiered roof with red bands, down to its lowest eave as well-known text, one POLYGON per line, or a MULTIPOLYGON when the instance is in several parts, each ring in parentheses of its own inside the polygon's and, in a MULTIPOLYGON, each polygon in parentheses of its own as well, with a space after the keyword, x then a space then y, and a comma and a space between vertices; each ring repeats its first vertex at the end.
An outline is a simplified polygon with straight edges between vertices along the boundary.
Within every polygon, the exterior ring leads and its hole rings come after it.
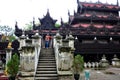
POLYGON ((88 3, 77 0, 77 12, 69 15, 73 35, 120 35, 120 6, 106 3, 88 3))

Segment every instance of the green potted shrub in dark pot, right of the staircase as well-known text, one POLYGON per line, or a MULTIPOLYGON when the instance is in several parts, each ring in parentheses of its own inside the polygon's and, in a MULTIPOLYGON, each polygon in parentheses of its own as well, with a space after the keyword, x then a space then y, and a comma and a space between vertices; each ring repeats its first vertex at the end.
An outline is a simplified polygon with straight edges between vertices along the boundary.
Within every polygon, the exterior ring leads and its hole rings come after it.
POLYGON ((84 69, 84 59, 81 55, 76 55, 73 60, 73 71, 75 80, 79 80, 80 72, 84 69))

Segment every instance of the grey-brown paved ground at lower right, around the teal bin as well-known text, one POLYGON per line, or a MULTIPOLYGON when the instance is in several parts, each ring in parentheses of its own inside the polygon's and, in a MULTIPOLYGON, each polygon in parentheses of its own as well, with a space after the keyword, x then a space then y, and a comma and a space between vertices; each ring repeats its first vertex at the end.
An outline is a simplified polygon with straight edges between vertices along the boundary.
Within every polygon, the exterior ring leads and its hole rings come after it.
MULTIPOLYGON (((85 80, 84 74, 80 80, 85 80)), ((90 70, 90 80, 120 80, 120 68, 90 70)))

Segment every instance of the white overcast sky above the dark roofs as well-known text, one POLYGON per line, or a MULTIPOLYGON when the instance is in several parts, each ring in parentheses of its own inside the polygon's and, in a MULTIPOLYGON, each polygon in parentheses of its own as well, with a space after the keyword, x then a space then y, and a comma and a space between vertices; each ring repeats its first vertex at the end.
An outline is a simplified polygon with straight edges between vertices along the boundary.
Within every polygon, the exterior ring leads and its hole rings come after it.
MULTIPOLYGON (((92 1, 98 0, 80 0, 92 1)), ((110 2, 116 4, 117 0, 99 0, 103 3, 110 2)), ((68 21, 68 10, 70 14, 77 9, 77 0, 0 0, 0 25, 9 25, 14 27, 15 21, 22 28, 26 23, 29 23, 35 17, 38 21, 46 15, 49 9, 53 19, 57 19, 59 23, 62 17, 64 22, 68 21)), ((120 0, 119 0, 120 3, 120 0)))

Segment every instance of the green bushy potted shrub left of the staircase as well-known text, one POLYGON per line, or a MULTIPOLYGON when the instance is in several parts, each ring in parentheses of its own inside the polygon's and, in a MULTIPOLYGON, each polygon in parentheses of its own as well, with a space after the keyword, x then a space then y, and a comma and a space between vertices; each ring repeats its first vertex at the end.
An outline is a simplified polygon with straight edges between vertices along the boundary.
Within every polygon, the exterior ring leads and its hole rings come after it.
POLYGON ((14 54, 8 61, 6 68, 7 74, 9 75, 9 80, 15 80, 19 71, 19 58, 17 54, 14 54))

